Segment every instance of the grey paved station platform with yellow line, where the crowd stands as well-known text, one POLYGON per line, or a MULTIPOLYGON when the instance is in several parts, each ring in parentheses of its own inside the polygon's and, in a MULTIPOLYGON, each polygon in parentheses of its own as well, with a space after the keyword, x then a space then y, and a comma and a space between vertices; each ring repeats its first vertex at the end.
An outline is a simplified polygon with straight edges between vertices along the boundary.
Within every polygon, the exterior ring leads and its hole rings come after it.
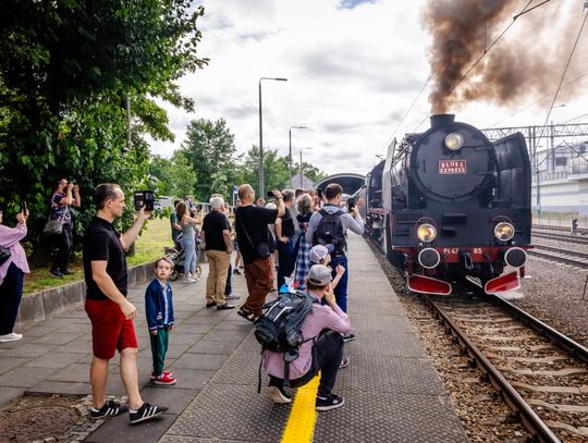
MULTIPOLYGON (((106 420, 86 442, 467 442, 415 330, 365 241, 350 233, 347 311, 356 340, 345 344, 348 367, 334 392, 339 409, 314 408, 318 380, 296 390, 290 405, 257 394, 260 346, 253 325, 235 310, 205 307, 204 278, 173 283, 176 327, 170 334, 168 366, 173 386, 149 383, 151 357, 144 313, 148 283, 130 288, 139 315, 138 371, 145 401, 169 406, 158 419, 131 427, 125 416, 106 420)), ((245 279, 233 291, 246 297, 245 279)), ((20 342, 0 344, 0 404, 24 392, 90 393, 89 322, 84 310, 49 319, 23 331, 20 342)), ((123 395, 111 361, 108 394, 123 395)))

